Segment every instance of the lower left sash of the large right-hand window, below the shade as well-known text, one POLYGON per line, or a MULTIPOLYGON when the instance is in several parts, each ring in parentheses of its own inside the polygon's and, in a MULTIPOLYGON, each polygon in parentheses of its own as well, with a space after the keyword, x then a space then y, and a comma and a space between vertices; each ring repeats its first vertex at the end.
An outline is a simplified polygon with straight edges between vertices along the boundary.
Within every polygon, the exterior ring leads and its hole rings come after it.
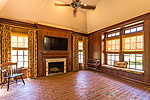
POLYGON ((107 54, 107 64, 114 65, 114 61, 119 61, 119 54, 107 54))

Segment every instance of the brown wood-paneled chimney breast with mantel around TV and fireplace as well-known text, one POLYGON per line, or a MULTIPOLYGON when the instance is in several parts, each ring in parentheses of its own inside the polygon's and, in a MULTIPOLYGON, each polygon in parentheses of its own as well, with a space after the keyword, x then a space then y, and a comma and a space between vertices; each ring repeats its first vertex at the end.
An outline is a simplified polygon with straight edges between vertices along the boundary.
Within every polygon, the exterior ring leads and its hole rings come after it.
POLYGON ((44 25, 38 27, 38 76, 46 75, 46 58, 67 58, 67 71, 71 71, 71 34, 72 31, 44 25), (44 50, 44 36, 68 38, 68 51, 44 50))

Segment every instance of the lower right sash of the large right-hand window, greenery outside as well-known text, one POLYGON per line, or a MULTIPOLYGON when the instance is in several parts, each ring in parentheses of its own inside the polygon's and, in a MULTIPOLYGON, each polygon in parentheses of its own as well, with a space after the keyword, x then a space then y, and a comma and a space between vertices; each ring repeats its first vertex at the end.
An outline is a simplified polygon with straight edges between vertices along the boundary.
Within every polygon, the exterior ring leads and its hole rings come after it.
POLYGON ((128 68, 143 70, 143 54, 124 54, 124 61, 128 62, 128 68))

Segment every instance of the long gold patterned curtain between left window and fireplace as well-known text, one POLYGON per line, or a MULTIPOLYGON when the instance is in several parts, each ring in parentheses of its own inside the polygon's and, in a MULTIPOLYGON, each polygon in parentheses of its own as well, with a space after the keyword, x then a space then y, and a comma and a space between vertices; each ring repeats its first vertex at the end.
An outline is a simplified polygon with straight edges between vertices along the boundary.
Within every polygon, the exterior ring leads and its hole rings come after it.
POLYGON ((30 78, 37 77, 37 34, 35 30, 28 31, 28 74, 30 78))

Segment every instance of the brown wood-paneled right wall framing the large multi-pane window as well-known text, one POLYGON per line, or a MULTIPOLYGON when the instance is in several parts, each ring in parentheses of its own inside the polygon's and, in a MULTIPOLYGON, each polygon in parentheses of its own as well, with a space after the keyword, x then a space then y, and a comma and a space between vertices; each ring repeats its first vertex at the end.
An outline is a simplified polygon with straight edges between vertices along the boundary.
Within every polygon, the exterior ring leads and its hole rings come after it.
MULTIPOLYGON (((144 21, 144 75, 138 75, 130 72, 117 71, 109 68, 101 68, 101 72, 115 75, 124 79, 150 85, 150 13, 138 16, 136 18, 121 22, 119 24, 98 30, 89 34, 89 58, 101 59, 101 34, 111 29, 123 27, 125 25, 144 21)), ((106 60, 106 59, 105 59, 106 60)))

